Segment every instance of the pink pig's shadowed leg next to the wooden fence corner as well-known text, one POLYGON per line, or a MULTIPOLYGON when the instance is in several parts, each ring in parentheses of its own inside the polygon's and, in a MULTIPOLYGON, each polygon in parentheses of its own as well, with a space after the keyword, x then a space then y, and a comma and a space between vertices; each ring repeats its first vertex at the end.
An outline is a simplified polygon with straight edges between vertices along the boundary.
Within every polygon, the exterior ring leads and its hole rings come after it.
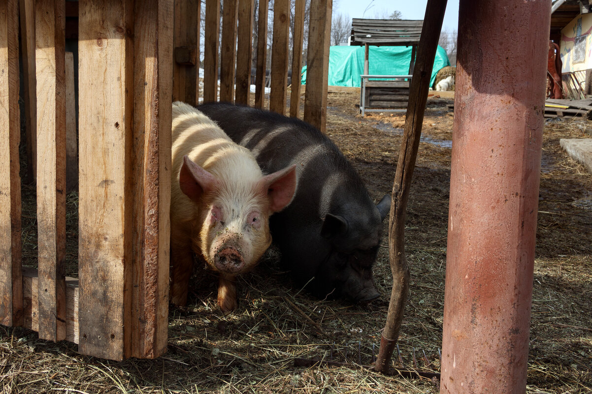
POLYGON ((185 306, 189 277, 193 269, 193 252, 186 237, 172 237, 170 240, 170 302, 176 306, 185 306))

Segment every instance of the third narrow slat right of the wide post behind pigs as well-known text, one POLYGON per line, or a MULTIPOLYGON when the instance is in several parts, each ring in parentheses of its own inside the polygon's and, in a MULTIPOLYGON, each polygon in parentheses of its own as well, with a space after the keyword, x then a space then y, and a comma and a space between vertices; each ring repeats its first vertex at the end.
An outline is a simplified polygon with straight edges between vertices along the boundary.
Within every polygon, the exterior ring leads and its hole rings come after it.
POLYGON ((236 50, 236 97, 240 104, 249 104, 251 91, 251 59, 253 57, 253 18, 255 0, 239 0, 239 37, 236 50))

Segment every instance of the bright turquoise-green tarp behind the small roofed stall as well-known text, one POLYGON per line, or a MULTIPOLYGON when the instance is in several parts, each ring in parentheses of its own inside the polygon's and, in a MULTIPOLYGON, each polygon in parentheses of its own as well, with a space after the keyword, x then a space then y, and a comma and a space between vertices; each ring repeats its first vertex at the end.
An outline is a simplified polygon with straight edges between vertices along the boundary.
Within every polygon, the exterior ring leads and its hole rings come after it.
MULTIPOLYGON (((371 75, 408 75, 411 62, 411 47, 369 47, 368 64, 371 75)), ((438 46, 432 70, 430 86, 436 73, 450 66, 446 51, 438 46)), ((364 72, 364 47, 333 46, 329 51, 329 86, 360 86, 364 72)), ((303 67, 302 83, 306 83, 306 66, 303 67)))

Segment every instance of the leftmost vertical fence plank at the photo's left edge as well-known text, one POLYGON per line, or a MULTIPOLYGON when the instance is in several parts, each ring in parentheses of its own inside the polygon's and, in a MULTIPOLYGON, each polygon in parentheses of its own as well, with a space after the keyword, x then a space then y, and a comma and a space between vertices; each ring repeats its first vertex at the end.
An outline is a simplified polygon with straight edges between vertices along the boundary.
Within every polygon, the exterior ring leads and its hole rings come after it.
POLYGON ((18 2, 0 3, 0 324, 22 324, 18 2))

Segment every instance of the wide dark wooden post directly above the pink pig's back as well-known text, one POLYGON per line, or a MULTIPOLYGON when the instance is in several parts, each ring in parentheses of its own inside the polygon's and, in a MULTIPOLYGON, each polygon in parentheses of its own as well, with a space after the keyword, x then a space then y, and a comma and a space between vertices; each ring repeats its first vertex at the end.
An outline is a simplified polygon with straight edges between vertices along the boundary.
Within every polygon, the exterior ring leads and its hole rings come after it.
POLYGON ((173 100, 197 105, 200 97, 200 0, 175 0, 173 100))

